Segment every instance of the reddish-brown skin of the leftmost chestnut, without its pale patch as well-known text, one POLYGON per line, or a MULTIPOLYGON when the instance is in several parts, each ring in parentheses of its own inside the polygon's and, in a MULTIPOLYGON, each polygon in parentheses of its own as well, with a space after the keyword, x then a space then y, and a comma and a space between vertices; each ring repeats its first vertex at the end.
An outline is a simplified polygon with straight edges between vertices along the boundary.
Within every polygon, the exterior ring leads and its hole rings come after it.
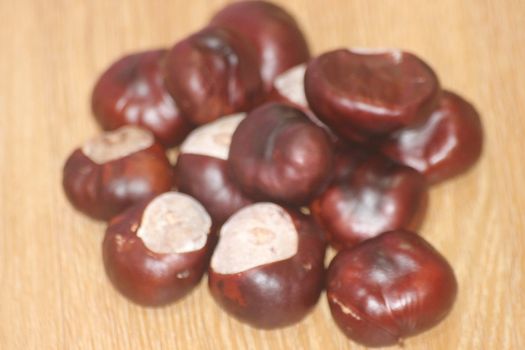
POLYGON ((151 147, 123 158, 97 164, 76 149, 63 170, 69 202, 98 220, 109 220, 132 204, 173 187, 173 170, 164 148, 151 147))

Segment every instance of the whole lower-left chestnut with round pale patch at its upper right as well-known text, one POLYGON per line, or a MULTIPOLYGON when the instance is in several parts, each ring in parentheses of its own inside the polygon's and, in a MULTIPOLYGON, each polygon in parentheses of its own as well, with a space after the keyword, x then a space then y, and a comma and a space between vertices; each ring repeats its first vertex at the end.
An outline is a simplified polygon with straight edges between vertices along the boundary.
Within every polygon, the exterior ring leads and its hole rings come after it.
POLYGON ((160 306, 195 287, 208 266, 211 218, 194 198, 163 193, 109 223, 102 244, 106 273, 135 303, 160 306))

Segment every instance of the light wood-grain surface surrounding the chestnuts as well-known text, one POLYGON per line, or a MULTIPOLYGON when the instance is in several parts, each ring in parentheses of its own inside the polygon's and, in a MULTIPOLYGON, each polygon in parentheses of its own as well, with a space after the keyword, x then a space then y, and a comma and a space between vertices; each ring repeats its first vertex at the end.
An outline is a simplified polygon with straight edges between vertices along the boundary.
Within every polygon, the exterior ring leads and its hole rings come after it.
MULTIPOLYGON (((422 234, 450 260, 460 293, 407 349, 524 349, 525 3, 522 0, 282 0, 313 51, 401 47, 483 115, 485 150, 432 190, 422 234)), ((162 309, 106 280, 104 225, 61 188, 70 151, 97 132, 97 75, 134 50, 203 26, 221 0, 0 0, 0 349, 359 349, 324 296, 303 322, 253 330, 221 312, 205 281, 162 309)))

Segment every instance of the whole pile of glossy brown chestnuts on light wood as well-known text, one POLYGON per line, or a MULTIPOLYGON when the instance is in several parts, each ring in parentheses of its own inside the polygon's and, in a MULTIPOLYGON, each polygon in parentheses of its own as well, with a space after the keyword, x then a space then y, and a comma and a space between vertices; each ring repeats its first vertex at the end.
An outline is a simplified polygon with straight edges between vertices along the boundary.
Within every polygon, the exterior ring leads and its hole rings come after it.
POLYGON ((207 271, 224 310, 271 329, 326 290, 339 328, 368 346, 452 308, 454 272, 414 232, 428 187, 479 158, 482 128, 414 54, 311 57, 284 9, 236 2, 170 50, 115 62, 92 109, 105 132, 71 154, 63 186, 109 221, 105 269, 132 301, 174 302, 207 271))

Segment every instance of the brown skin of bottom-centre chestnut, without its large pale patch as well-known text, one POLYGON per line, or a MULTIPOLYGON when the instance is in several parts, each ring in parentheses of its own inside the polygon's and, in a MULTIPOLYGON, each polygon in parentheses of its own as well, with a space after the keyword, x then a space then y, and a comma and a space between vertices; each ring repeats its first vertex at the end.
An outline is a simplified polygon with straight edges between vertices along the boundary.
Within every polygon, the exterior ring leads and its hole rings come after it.
POLYGON ((215 301, 252 327, 274 329, 300 321, 317 303, 324 284, 325 243, 311 219, 288 210, 299 234, 297 254, 235 274, 209 269, 215 301))

